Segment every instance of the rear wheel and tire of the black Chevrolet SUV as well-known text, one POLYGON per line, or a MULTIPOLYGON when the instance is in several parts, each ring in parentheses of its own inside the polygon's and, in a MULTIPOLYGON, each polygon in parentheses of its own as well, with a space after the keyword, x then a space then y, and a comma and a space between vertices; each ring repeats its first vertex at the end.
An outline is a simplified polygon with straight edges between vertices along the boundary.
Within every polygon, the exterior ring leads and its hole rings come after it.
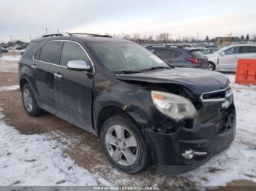
POLYGON ((29 84, 23 85, 21 90, 22 95, 22 103, 24 106, 25 111, 31 117, 37 117, 41 115, 44 111, 39 108, 37 105, 37 101, 34 97, 33 90, 31 89, 29 84))

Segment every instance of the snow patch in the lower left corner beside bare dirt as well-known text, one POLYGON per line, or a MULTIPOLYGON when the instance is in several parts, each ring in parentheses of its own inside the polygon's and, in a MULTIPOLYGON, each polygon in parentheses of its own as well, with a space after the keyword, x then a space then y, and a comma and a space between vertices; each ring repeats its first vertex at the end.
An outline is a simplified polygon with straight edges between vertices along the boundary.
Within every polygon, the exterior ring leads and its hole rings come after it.
POLYGON ((63 155, 48 135, 21 135, 6 125, 0 111, 0 185, 97 185, 89 171, 63 155))

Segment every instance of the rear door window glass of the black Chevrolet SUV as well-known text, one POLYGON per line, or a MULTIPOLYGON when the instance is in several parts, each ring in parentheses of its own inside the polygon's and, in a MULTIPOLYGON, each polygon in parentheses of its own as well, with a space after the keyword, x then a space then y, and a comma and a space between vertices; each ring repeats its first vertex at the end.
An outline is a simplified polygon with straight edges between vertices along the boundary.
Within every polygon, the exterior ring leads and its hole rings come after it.
POLYGON ((61 42, 47 42, 42 46, 39 61, 57 63, 61 42))

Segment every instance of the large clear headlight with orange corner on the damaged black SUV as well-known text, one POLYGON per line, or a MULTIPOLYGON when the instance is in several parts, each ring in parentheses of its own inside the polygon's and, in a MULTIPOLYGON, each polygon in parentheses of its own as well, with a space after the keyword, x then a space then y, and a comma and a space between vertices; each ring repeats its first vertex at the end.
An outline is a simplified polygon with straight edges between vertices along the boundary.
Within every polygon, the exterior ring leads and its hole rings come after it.
POLYGON ((173 93, 151 91, 151 99, 160 112, 173 120, 179 121, 196 116, 195 106, 187 98, 173 93))

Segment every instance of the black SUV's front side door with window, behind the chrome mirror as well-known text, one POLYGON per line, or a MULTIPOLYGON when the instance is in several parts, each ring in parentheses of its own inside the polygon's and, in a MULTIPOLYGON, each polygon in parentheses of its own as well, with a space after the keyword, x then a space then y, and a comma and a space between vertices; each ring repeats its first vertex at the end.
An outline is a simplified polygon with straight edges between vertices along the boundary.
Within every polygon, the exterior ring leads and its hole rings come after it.
POLYGON ((92 87, 94 73, 71 71, 68 61, 92 63, 77 42, 64 42, 59 66, 55 70, 54 98, 57 115, 80 128, 91 130, 92 87))

